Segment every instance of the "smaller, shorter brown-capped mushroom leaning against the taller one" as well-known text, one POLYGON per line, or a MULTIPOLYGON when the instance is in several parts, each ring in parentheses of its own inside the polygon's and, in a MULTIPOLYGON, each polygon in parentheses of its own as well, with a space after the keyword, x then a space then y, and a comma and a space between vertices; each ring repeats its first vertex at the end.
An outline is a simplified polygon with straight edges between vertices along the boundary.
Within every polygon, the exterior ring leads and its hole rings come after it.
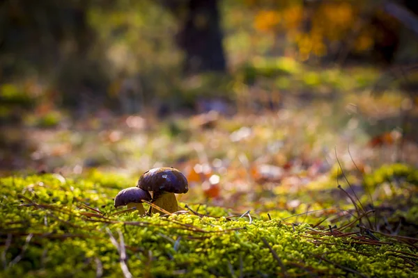
POLYGON ((129 187, 119 191, 115 197, 115 208, 118 206, 126 206, 127 208, 136 207, 141 215, 145 214, 142 200, 150 201, 151 195, 148 191, 137 187, 129 187))

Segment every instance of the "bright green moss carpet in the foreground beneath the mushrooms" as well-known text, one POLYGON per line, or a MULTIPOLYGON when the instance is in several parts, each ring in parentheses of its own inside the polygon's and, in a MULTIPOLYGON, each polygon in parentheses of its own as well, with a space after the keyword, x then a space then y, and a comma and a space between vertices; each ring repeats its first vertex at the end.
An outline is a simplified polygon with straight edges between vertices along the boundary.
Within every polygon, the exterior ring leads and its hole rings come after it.
MULTIPOLYGON (((391 177, 416 174, 394 169, 391 177)), ((329 211, 293 222, 277 217, 289 212, 240 217, 226 208, 184 203, 187 211, 178 214, 140 217, 113 207, 127 182, 97 174, 1 179, 0 276, 418 277, 418 240, 373 232, 366 217, 334 211, 339 220, 327 228, 328 222, 318 222, 329 211)))

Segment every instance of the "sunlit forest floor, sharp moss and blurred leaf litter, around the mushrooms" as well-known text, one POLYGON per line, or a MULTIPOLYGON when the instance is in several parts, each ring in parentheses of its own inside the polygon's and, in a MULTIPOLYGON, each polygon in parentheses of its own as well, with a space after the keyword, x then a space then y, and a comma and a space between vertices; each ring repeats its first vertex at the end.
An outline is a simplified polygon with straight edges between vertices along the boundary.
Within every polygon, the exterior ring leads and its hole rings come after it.
POLYGON ((416 275, 417 108, 371 95, 376 76, 236 82, 233 106, 201 99, 187 116, 38 107, 2 129, 1 276, 416 275), (113 207, 162 166, 189 181, 184 211, 113 207))

